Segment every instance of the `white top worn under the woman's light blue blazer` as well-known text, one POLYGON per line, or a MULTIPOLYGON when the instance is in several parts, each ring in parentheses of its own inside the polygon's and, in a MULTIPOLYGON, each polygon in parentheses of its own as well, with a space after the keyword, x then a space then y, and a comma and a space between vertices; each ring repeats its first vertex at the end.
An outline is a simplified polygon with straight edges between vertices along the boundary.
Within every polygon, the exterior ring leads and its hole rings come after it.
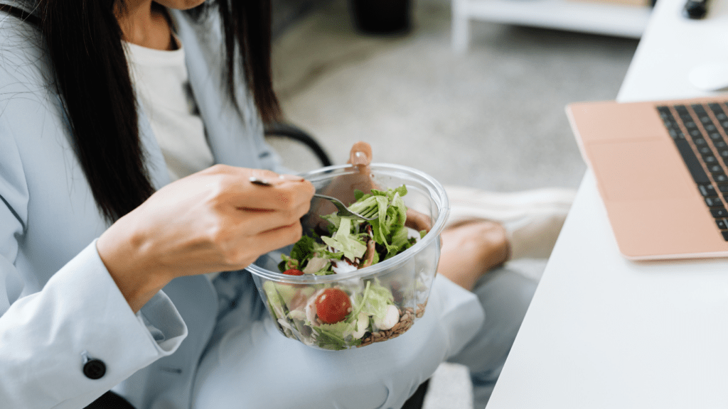
POLYGON ((189 85, 184 49, 162 51, 124 42, 132 82, 162 148, 170 180, 213 165, 205 127, 189 85))

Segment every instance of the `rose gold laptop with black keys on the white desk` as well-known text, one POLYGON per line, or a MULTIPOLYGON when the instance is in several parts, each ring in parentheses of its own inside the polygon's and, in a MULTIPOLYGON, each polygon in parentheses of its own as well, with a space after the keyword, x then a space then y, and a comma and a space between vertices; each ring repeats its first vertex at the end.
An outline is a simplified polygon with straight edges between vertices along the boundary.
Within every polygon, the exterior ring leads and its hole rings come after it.
POLYGON ((625 257, 728 256, 727 102, 566 107, 625 257))

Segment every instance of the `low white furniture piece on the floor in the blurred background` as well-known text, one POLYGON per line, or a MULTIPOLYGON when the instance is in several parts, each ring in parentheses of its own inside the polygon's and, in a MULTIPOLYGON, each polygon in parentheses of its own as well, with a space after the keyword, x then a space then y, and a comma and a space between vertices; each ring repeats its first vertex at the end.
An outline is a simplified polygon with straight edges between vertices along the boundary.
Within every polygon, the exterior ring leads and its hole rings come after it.
POLYGON ((452 0, 452 44, 470 46, 470 20, 640 38, 651 7, 577 0, 452 0))

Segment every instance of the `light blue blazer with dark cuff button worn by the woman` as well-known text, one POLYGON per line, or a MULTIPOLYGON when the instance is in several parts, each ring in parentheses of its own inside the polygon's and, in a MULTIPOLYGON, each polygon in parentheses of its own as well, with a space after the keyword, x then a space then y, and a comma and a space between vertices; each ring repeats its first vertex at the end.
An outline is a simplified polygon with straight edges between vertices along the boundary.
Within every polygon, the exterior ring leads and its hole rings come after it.
MULTIPOLYGON (((194 22, 174 12, 173 19, 215 162, 280 170, 248 90, 237 89, 240 110, 226 98, 220 25, 211 14, 194 22)), ((189 408, 215 327, 215 290, 204 276, 175 279, 132 312, 96 252, 108 225, 48 86, 52 71, 40 42, 33 25, 0 14, 0 407, 78 409, 119 385, 140 409, 189 408), (106 368, 98 379, 84 375, 95 360, 106 368)), ((159 188, 169 182, 167 168, 143 113, 139 130, 159 188)), ((451 291, 459 301, 448 311, 466 304, 474 311, 474 297, 451 291)), ((453 351, 477 330, 478 311, 451 325, 465 328, 460 338, 441 335, 453 351)), ((403 402, 419 378, 405 392, 389 391, 392 402, 403 402)))

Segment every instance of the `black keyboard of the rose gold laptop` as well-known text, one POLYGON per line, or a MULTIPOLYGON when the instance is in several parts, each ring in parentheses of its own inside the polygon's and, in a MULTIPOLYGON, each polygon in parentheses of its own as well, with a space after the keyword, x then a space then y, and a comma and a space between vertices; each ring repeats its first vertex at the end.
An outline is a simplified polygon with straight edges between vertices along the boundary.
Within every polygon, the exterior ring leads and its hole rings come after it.
POLYGON ((662 123, 728 241, 728 106, 726 103, 657 106, 662 123))

